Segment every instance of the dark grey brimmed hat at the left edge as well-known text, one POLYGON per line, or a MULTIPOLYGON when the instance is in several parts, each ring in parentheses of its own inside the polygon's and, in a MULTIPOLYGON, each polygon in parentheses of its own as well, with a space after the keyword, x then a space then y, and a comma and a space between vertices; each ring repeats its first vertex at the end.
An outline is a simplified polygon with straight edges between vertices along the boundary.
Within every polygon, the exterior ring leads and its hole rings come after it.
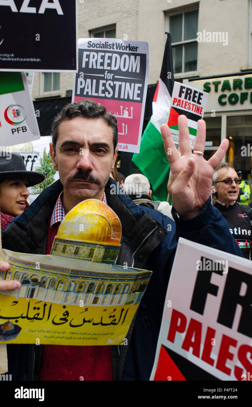
POLYGON ((22 155, 11 153, 11 159, 0 155, 0 180, 27 179, 28 186, 40 184, 45 176, 36 171, 26 171, 22 155))

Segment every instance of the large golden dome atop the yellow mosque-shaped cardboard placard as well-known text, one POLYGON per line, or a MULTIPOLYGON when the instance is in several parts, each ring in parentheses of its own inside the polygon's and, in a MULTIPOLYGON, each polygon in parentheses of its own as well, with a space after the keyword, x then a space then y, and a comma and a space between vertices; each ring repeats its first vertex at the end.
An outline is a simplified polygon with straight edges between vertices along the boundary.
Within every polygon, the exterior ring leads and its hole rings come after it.
POLYGON ((120 246, 121 234, 121 222, 116 213, 98 199, 86 199, 68 212, 56 238, 120 246))

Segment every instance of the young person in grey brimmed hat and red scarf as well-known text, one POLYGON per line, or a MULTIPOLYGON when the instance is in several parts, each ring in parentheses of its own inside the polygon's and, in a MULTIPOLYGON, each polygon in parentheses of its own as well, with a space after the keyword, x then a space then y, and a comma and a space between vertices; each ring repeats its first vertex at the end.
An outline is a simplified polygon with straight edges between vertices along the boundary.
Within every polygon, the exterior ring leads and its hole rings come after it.
POLYGON ((20 154, 11 158, 0 156, 0 217, 1 231, 29 206, 27 187, 40 184, 45 177, 35 171, 26 171, 20 154))

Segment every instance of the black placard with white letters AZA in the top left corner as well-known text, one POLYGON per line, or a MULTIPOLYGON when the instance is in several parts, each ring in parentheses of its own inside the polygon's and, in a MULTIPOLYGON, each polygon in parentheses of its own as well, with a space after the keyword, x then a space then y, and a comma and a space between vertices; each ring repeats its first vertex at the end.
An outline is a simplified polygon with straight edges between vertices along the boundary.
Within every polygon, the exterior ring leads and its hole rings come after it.
POLYGON ((76 72, 77 0, 0 0, 0 70, 76 72))

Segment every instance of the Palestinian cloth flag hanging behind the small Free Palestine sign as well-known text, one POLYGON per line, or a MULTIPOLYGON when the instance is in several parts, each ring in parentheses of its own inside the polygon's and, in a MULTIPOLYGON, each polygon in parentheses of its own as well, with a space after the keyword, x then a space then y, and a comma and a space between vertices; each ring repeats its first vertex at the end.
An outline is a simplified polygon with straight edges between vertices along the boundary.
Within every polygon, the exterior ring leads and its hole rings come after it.
POLYGON ((134 164, 149 179, 153 188, 153 198, 160 201, 167 200, 170 168, 160 126, 168 122, 173 84, 171 36, 167 34, 162 69, 152 102, 152 116, 142 135, 140 152, 134 153, 132 157, 134 164))

